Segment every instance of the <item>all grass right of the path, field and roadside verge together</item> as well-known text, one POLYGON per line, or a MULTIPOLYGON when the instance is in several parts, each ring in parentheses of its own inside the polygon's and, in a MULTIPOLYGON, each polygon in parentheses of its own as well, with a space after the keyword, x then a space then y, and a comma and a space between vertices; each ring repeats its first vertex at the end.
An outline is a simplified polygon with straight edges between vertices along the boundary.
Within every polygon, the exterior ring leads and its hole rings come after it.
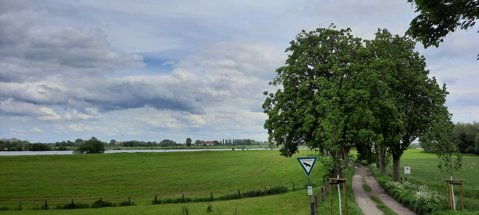
MULTIPOLYGON (((448 173, 441 173, 438 170, 439 159, 433 153, 425 153, 422 149, 412 149, 406 150, 401 157, 400 161, 400 177, 407 178, 407 175, 404 174, 403 166, 411 167, 411 174, 409 175, 409 182, 412 182, 412 185, 404 184, 404 187, 412 187, 411 191, 420 191, 424 190, 421 188, 421 185, 427 184, 427 189, 432 190, 435 193, 439 191, 440 195, 443 196, 439 203, 433 208, 427 208, 427 210, 432 211, 436 214, 449 214, 441 213, 440 210, 447 209, 446 199, 446 183, 444 179, 449 178, 448 173), (419 186, 417 186, 419 185, 419 186)), ((464 208, 468 211, 444 211, 450 212, 451 214, 472 214, 473 211, 479 211, 479 156, 473 155, 464 155, 463 156, 463 168, 456 173, 453 173, 454 179, 463 179, 463 193, 464 193, 464 208)), ((373 170, 378 182, 383 186, 383 188, 388 191, 388 188, 385 187, 385 184, 388 181, 391 181, 392 178, 389 177, 389 174, 392 175, 392 161, 387 167, 385 174, 381 174, 379 169, 375 168, 375 165, 370 165, 373 170)), ((456 185, 457 186, 457 185, 456 185)), ((424 188, 424 187, 423 187, 424 188)), ((454 187, 455 194, 460 199, 459 195, 459 186, 454 187)), ((412 210, 417 209, 417 204, 414 206, 414 196, 410 194, 404 195, 401 193, 394 193, 391 190, 388 191, 393 197, 398 199, 401 203, 408 206, 412 210)), ((423 192, 424 193, 424 192, 423 192)), ((427 196, 425 196, 427 197, 427 196)), ((424 205, 424 203, 423 203, 424 205)), ((460 205, 460 200, 458 200, 458 205, 460 205)), ((460 208, 457 207, 457 208, 460 208)), ((429 213, 428 211, 417 211, 417 213, 429 213)))

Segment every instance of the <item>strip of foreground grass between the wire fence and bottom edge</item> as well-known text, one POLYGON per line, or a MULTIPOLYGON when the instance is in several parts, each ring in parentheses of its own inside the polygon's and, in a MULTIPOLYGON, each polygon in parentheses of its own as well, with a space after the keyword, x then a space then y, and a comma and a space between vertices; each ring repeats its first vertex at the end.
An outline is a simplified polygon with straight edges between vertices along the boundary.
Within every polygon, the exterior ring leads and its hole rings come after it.
MULTIPOLYGON (((363 213, 354 201, 354 196, 351 189, 351 177, 353 171, 354 170, 351 169, 346 175, 348 212, 349 214, 360 215, 363 213)), ((313 174, 314 172, 315 170, 313 171, 313 174)), ((318 190, 321 190, 319 186, 317 188, 313 188, 313 192, 315 194, 318 190)), ((189 214, 309 214, 309 197, 307 193, 307 190, 301 189, 289 191, 283 194, 226 201, 148 204, 127 207, 74 209, 68 211, 10 210, 8 212, 9 214, 182 214, 182 209, 188 208, 189 214), (211 212, 207 212, 207 208, 210 205, 211 212)), ((336 189, 333 189, 332 196, 333 212, 334 214, 339 214, 339 203, 336 189)), ((342 206, 344 208, 343 200, 342 206)), ((325 202, 320 201, 319 203, 318 214, 329 214, 329 197, 327 195, 325 196, 325 202)))

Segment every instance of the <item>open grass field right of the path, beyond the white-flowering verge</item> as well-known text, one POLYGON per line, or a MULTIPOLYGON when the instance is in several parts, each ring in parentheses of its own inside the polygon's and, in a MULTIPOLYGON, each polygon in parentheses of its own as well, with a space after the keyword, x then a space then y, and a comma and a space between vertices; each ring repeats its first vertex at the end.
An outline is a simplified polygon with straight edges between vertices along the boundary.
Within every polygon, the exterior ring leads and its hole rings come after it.
MULTIPOLYGON (((409 181, 414 184, 428 184, 430 188, 435 189, 446 196, 446 183, 444 179, 449 178, 448 173, 441 173, 438 170, 439 159, 436 154, 425 153, 422 149, 406 150, 400 161, 400 177, 407 178, 404 174, 404 166, 411 167, 409 181)), ((464 207, 470 210, 479 210, 479 156, 464 155, 462 161, 463 167, 460 171, 453 173, 454 179, 463 179, 464 207)), ((387 167, 386 174, 380 174, 379 170, 374 170, 375 177, 389 178, 392 174, 392 161, 387 167)), ((459 196, 459 187, 455 187, 455 194, 459 196)), ((444 201, 447 204, 446 201, 444 201)))

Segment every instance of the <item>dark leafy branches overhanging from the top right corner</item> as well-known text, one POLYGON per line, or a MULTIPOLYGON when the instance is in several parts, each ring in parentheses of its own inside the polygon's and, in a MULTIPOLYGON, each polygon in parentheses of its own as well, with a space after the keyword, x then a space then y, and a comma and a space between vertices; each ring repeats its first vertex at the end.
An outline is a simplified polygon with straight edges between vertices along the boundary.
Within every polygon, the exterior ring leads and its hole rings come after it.
POLYGON ((447 34, 457 28, 467 30, 479 19, 477 0, 407 0, 407 2, 415 5, 415 12, 419 12, 419 15, 412 19, 406 33, 421 41, 425 48, 438 47, 447 34))

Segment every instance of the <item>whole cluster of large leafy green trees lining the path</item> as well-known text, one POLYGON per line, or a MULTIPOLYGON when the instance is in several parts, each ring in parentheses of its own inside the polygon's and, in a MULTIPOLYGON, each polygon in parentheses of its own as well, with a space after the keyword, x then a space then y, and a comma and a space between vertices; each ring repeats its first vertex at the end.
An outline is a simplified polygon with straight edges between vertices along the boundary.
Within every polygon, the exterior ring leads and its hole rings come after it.
POLYGON ((339 177, 352 147, 377 158, 382 172, 389 155, 398 181, 400 157, 412 141, 436 138, 431 128, 450 122, 446 87, 428 77, 414 46, 386 29, 373 40, 334 25, 298 34, 270 82, 281 88, 264 93, 269 142, 284 145, 287 157, 303 144, 329 151, 339 177))

